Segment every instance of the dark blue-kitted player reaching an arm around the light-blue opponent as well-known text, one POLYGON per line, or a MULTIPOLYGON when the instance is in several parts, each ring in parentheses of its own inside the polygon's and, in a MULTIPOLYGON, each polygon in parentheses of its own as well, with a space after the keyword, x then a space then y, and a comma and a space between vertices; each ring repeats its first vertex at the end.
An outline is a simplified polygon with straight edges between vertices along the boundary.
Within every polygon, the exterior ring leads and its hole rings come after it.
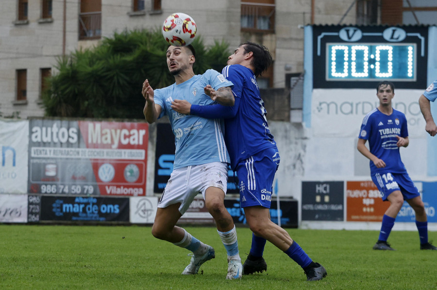
POLYGON ((272 57, 265 46, 252 42, 241 44, 222 70, 234 84, 234 106, 199 106, 175 100, 171 107, 184 114, 226 118, 225 141, 231 167, 237 172, 240 204, 253 232, 252 248, 244 262, 243 274, 267 270, 263 251, 268 240, 303 268, 307 280, 320 280, 326 276, 325 268, 313 262, 285 229, 270 220, 272 184, 280 156, 269 130, 256 76, 266 71, 271 62, 272 57))

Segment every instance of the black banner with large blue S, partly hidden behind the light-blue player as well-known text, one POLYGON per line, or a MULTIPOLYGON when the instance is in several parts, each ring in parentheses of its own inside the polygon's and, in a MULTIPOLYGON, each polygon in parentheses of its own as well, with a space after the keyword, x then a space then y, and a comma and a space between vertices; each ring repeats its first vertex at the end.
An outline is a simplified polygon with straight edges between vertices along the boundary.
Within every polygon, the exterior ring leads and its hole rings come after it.
MULTIPOLYGON (((156 150, 155 150, 155 181, 153 192, 162 193, 173 171, 174 162, 174 134, 168 123, 160 123, 156 126, 156 150)), ((235 175, 236 176, 236 175, 235 175)), ((227 193, 239 193, 235 185, 234 172, 228 170, 227 193)))

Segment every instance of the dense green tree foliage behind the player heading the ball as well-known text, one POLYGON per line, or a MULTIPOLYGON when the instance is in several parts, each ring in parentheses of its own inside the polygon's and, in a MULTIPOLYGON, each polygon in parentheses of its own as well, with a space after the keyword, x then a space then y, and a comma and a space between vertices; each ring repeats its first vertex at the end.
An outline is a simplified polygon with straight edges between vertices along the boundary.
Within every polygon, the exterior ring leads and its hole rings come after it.
MULTIPOLYGON (((205 47, 201 37, 196 49, 195 74, 226 64, 228 44, 205 47)), ((77 50, 59 58, 58 73, 49 78, 42 100, 47 116, 142 119, 143 81, 154 89, 174 83, 166 63, 167 43, 160 31, 123 31, 104 38, 92 49, 77 50)))

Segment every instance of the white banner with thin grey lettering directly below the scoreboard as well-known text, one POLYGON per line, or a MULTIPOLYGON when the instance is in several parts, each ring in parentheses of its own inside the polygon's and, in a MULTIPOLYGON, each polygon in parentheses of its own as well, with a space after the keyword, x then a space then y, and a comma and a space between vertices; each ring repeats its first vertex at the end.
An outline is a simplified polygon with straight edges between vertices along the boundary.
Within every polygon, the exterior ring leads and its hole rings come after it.
MULTIPOLYGON (((376 86, 377 82, 375 82, 376 86)), ((420 113, 423 90, 396 90, 393 108, 405 114, 409 137, 424 137, 425 120, 420 113)), ((312 96, 311 127, 317 137, 358 137, 363 118, 379 106, 376 88, 315 89, 312 96), (353 98, 351 98, 353 96, 353 98), (326 126, 326 124, 330 124, 326 126)))

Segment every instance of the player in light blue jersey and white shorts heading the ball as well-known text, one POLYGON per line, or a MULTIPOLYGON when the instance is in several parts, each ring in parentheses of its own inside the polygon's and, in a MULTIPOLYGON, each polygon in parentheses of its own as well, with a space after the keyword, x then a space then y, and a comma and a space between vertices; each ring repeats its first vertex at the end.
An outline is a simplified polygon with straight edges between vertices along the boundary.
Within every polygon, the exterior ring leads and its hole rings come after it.
POLYGON ((238 254, 235 225, 224 207, 229 155, 222 136, 223 121, 180 114, 170 107, 176 99, 202 105, 213 104, 213 100, 224 105, 234 104, 230 89, 232 83, 214 70, 194 75, 194 61, 193 46, 169 46, 167 65, 176 82, 157 90, 151 88, 147 79, 143 83, 142 94, 146 99, 144 115, 147 122, 153 123, 167 115, 176 145, 173 171, 158 202, 152 234, 158 239, 192 251, 190 264, 182 274, 197 274, 205 261, 215 257, 215 251, 185 229, 176 227, 176 223, 194 197, 202 193, 228 253, 226 279, 241 278, 243 265, 238 254))

